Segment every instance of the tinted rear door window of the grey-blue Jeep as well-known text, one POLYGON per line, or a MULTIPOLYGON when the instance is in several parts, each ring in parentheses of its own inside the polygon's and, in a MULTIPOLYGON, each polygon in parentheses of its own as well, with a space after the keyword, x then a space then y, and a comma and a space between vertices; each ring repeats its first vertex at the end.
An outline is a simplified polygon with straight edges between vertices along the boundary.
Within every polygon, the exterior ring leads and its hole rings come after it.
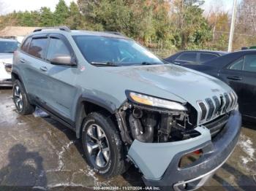
POLYGON ((47 39, 32 39, 29 47, 29 54, 37 58, 43 58, 47 46, 47 39))

